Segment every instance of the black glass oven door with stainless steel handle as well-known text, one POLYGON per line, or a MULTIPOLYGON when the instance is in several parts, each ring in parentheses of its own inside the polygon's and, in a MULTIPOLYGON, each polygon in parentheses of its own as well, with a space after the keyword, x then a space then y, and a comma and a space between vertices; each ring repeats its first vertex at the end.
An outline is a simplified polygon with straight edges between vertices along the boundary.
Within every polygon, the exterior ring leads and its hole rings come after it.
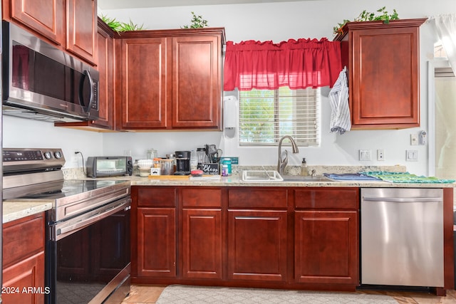
POLYGON ((128 196, 48 224, 46 283, 51 293, 46 303, 103 303, 128 295, 130 202, 128 196))

